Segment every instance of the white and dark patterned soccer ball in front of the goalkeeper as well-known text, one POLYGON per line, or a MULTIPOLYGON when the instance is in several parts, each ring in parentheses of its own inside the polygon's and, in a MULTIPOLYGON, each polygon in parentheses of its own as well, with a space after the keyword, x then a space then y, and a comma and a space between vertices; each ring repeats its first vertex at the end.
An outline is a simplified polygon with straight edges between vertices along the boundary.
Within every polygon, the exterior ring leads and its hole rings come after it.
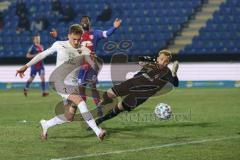
POLYGON ((155 115, 163 120, 169 119, 172 115, 171 107, 165 103, 159 103, 154 110, 155 115))

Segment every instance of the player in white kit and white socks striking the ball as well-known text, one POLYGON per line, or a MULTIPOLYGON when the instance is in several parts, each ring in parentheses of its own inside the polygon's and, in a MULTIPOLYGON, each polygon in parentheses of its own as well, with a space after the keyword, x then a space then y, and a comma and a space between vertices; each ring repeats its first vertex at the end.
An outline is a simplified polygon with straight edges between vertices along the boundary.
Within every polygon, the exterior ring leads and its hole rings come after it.
MULTIPOLYGON (((47 50, 39 53, 37 56, 35 56, 31 61, 29 61, 26 65, 21 67, 19 70, 16 72, 16 76, 19 74, 21 78, 24 77, 24 72, 32 65, 36 64, 40 60, 44 59, 48 55, 51 55, 53 53, 57 53, 57 61, 56 61, 56 67, 62 65, 63 63, 77 58, 81 55, 89 55, 90 50, 84 46, 80 46, 80 40, 81 36, 83 33, 83 29, 79 24, 74 24, 69 27, 68 31, 68 40, 67 41, 56 41, 52 47, 48 48, 47 50)), ((87 56, 86 56, 87 57, 87 56)), ((86 60, 88 59, 88 62, 91 64, 93 63, 90 58, 85 58, 86 60)), ((92 65, 92 64, 91 64, 92 65)), ((80 66, 80 64, 79 64, 80 66)), ((70 81, 73 80, 73 78, 77 78, 77 75, 70 76, 70 81)), ((82 114, 84 120, 86 123, 89 125, 89 127, 92 128, 92 130, 95 132, 97 137, 100 140, 103 140, 104 136, 106 135, 106 131, 99 128, 95 120, 93 119, 91 113, 89 112, 87 105, 85 101, 81 98, 80 95, 78 94, 63 94, 58 92, 60 96, 62 96, 63 101, 64 101, 64 107, 68 107, 68 101, 73 102, 74 104, 77 105, 78 109, 80 110, 80 113, 82 114)), ((69 107, 71 108, 71 107, 69 107)), ((58 124, 66 123, 69 122, 68 117, 70 116, 69 114, 74 114, 72 111, 66 112, 66 114, 60 114, 55 117, 53 117, 50 120, 41 120, 40 124, 42 127, 42 133, 41 133, 41 138, 43 140, 47 139, 47 130, 50 127, 53 127, 58 124)), ((70 116, 71 117, 71 116, 70 116)))

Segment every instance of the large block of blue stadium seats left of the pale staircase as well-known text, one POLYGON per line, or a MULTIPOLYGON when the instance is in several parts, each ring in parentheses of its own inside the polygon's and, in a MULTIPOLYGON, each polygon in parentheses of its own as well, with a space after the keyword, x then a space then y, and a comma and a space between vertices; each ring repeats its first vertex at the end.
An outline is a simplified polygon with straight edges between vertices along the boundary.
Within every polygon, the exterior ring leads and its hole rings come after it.
MULTIPOLYGON (((202 0, 187 1, 187 3, 186 1, 179 0, 163 0, 161 2, 146 2, 145 0, 116 0, 104 3, 98 0, 60 1, 63 6, 70 3, 75 11, 83 10, 82 12, 77 12, 76 18, 73 22, 78 23, 80 15, 86 12, 86 14, 91 17, 92 25, 96 29, 104 30, 111 27, 116 15, 120 15, 120 18, 123 19, 122 26, 114 36, 109 38, 109 40, 116 41, 122 39, 131 39, 135 46, 131 50, 131 53, 133 54, 153 54, 156 53, 158 49, 166 47, 166 44, 173 38, 173 35, 180 31, 183 24, 186 23, 196 8, 202 4, 202 0), (113 10, 111 19, 107 22, 96 22, 95 20, 97 15, 102 12, 107 4, 110 5, 113 10), (117 11, 118 13, 116 13, 117 11), (144 42, 143 45, 142 42, 144 42)), ((26 3, 28 10, 30 10, 31 7, 37 6, 35 9, 31 10, 31 14, 28 14, 30 21, 33 21, 37 16, 47 16, 49 20, 48 29, 57 28, 59 30, 60 37, 66 37, 67 28, 72 22, 59 23, 59 17, 52 15, 51 4, 48 1, 24 0, 24 2, 26 3)), ((237 1, 235 1, 233 4, 235 3, 237 3, 237 1)), ((6 11, 6 15, 8 16, 5 17, 7 23, 3 29, 3 37, 12 36, 16 42, 20 42, 20 45, 23 47, 22 50, 24 50, 25 47, 28 48, 29 44, 31 44, 31 33, 23 32, 19 35, 15 34, 15 28, 18 22, 18 17, 15 16, 15 10, 16 2, 13 1, 9 9, 6 11), (9 31, 9 28, 11 28, 11 31, 9 31)), ((231 10, 228 10, 229 13, 232 13, 232 11, 230 11, 231 10)), ((232 18, 230 18, 230 20, 232 18)), ((230 20, 226 21, 228 22, 230 20)), ((233 21, 235 22, 236 18, 234 18, 233 21)), ((237 28, 238 25, 226 27, 228 30, 237 30, 237 28)), ((45 30, 45 32, 41 35, 42 43, 46 45, 49 45, 53 42, 52 39, 48 37, 48 29, 45 30)), ((229 35, 232 36, 231 34, 229 35)), ((210 37, 210 35, 207 35, 206 37, 210 37)), ((237 39, 236 36, 234 36, 234 38, 237 39)), ((10 42, 12 42, 11 38, 7 38, 6 44, 10 44, 10 42)), ((17 45, 15 50, 18 49, 20 49, 19 45, 17 45)), ((10 53, 11 48, 7 48, 6 51, 10 53)), ((15 56, 14 54, 6 54, 7 56, 15 56)), ((17 56, 21 55, 22 54, 19 52, 17 56)))

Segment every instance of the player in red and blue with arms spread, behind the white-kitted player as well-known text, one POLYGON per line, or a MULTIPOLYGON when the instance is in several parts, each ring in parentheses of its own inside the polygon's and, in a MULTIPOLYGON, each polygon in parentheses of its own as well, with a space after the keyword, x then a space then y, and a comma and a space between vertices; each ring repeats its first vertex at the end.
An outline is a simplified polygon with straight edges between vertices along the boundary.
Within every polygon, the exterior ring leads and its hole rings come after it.
MULTIPOLYGON (((80 19, 80 25, 83 27, 84 33, 82 35, 81 39, 81 45, 87 47, 91 50, 91 55, 94 57, 96 56, 96 49, 97 44, 101 39, 107 38, 111 36, 114 31, 121 26, 121 20, 116 19, 113 23, 113 26, 109 28, 108 30, 101 31, 101 30, 93 30, 91 28, 91 21, 88 16, 82 16, 80 19)), ((51 33, 51 36, 59 39, 58 33, 56 30, 53 30, 51 33)), ((92 98, 96 106, 100 102, 100 96, 99 92, 96 88, 97 83, 97 72, 93 70, 89 64, 83 64, 81 65, 79 75, 78 75, 78 84, 79 84, 79 91, 81 97, 86 101, 86 93, 85 89, 86 86, 89 85, 92 90, 92 98)))

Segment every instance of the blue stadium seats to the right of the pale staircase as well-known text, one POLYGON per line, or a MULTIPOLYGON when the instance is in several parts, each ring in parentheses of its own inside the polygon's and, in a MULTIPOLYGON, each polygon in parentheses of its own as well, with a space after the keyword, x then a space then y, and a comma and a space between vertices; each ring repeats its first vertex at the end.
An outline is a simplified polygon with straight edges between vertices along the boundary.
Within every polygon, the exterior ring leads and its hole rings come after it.
POLYGON ((199 30, 199 36, 194 37, 192 44, 185 47, 180 53, 236 53, 240 50, 240 1, 227 0, 220 6, 220 10, 213 14, 213 19, 207 22, 206 27, 199 30), (199 48, 200 47, 200 48, 199 48))

